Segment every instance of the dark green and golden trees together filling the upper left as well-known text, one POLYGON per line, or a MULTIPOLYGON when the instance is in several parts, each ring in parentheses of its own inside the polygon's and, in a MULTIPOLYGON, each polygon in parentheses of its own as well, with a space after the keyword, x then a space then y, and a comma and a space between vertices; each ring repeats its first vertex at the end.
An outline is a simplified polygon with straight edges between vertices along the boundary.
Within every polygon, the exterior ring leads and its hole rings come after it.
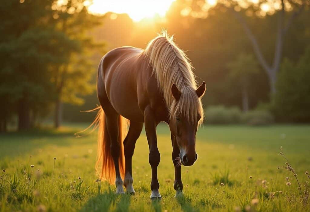
POLYGON ((52 109, 59 127, 62 102, 82 104, 95 90, 91 53, 104 43, 88 32, 101 18, 83 0, 4 0, 0 19, 0 130, 13 115, 19 130, 29 129, 52 109))

